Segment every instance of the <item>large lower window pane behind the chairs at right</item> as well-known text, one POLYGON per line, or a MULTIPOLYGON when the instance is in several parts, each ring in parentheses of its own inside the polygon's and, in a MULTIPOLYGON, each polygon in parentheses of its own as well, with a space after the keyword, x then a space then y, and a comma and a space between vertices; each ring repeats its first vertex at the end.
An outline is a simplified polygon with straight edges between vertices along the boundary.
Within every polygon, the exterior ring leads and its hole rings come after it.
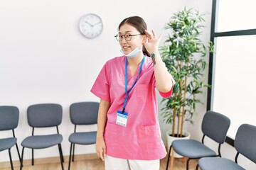
POLYGON ((231 119, 228 136, 235 139, 241 123, 255 125, 256 35, 219 37, 216 42, 212 107, 231 119))

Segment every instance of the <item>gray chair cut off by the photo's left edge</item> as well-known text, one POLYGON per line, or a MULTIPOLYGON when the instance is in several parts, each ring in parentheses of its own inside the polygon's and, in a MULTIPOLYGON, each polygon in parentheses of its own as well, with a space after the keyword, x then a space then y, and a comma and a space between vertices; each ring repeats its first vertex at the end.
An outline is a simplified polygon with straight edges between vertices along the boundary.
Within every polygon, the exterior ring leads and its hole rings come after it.
MULTIPOLYGON (((0 152, 8 149, 11 169, 14 165, 11 159, 11 147, 16 145, 18 152, 17 138, 14 129, 18 126, 19 111, 16 106, 0 106, 0 131, 12 130, 12 137, 0 138, 0 152)), ((21 156, 18 152, 18 158, 21 162, 21 156)))

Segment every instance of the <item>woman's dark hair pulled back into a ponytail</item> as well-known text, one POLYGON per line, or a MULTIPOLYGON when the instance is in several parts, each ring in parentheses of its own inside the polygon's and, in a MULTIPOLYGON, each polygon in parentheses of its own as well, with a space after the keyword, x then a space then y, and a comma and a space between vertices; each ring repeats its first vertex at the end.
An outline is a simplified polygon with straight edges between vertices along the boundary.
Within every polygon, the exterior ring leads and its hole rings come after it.
MULTIPOLYGON (((134 26, 134 28, 136 28, 139 31, 139 33, 141 33, 142 35, 145 34, 145 30, 147 29, 144 19, 139 16, 130 16, 128 18, 125 18, 119 24, 118 30, 120 30, 121 26, 123 26, 124 23, 134 26)), ((147 56, 150 56, 149 52, 146 50, 146 48, 144 46, 142 47, 142 52, 144 54, 146 54, 147 56)))

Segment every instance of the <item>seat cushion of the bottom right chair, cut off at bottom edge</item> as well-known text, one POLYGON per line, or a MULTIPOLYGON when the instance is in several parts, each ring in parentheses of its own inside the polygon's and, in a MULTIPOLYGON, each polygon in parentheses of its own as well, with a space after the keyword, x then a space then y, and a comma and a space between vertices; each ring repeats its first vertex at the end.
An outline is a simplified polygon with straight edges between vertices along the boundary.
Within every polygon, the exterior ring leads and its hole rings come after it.
POLYGON ((205 157, 198 161, 201 170, 244 170, 241 166, 231 161, 230 159, 220 157, 205 157))

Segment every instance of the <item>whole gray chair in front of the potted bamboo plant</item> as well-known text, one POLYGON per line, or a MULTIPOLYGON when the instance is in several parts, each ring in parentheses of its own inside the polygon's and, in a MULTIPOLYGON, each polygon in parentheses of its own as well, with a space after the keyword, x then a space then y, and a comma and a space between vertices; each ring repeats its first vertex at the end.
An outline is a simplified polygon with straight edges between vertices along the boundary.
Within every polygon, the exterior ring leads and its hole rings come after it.
MULTIPOLYGON (((171 153, 171 148, 173 148, 177 154, 183 157, 188 157, 186 161, 187 170, 191 159, 200 159, 201 157, 221 157, 220 146, 225 142, 229 127, 230 119, 228 117, 220 113, 207 111, 203 116, 201 125, 201 130, 203 132, 202 141, 200 142, 192 139, 174 140, 169 148, 169 153, 171 153), (205 137, 218 143, 218 154, 203 143, 205 137)), ((168 154, 166 170, 169 166, 169 159, 170 154, 168 154)))

